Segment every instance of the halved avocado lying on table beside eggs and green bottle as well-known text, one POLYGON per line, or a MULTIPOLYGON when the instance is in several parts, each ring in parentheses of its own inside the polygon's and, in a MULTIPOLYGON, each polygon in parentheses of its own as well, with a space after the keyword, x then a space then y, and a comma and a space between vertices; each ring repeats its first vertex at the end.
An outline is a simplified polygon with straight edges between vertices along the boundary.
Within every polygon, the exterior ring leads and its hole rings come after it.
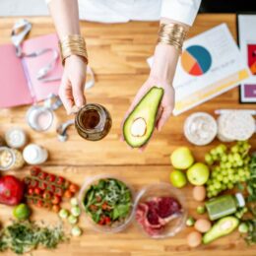
POLYGON ((237 227, 238 224, 239 221, 237 218, 224 217, 219 222, 214 224, 213 227, 204 234, 203 243, 208 244, 219 237, 229 234, 237 227))

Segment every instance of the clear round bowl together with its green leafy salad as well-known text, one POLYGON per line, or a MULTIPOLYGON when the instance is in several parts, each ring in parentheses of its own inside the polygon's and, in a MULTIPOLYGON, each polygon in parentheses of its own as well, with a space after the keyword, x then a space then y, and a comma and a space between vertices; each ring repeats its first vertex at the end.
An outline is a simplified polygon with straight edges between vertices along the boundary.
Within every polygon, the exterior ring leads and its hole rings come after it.
POLYGON ((112 176, 96 176, 80 191, 80 204, 96 230, 118 232, 134 215, 134 194, 122 180, 112 176))

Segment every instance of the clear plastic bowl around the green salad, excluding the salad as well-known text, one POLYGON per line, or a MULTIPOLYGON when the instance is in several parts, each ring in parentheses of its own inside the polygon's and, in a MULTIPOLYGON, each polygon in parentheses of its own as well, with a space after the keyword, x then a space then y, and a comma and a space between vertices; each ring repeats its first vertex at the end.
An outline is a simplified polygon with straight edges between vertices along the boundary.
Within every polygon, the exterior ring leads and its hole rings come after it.
POLYGON ((80 203, 80 207, 81 207, 82 212, 86 214, 88 223, 96 231, 99 231, 99 232, 109 232, 109 233, 120 232, 120 231, 124 230, 131 223, 131 221, 133 220, 133 217, 134 217, 134 203, 135 203, 134 191, 131 188, 131 186, 127 184, 126 181, 124 181, 122 178, 119 178, 119 177, 114 176, 114 175, 105 174, 105 175, 96 175, 94 177, 87 178, 83 187, 81 188, 81 190, 79 192, 79 203, 80 203), (131 191, 131 195, 132 195, 132 205, 131 205, 131 209, 130 209, 129 214, 124 219, 124 221, 122 221, 120 223, 114 223, 112 225, 100 225, 100 224, 96 224, 93 221, 91 215, 86 212, 83 202, 84 202, 86 193, 88 192, 88 189, 91 187, 91 185, 97 184, 100 179, 108 179, 108 178, 119 180, 119 181, 123 182, 128 187, 128 189, 131 191))

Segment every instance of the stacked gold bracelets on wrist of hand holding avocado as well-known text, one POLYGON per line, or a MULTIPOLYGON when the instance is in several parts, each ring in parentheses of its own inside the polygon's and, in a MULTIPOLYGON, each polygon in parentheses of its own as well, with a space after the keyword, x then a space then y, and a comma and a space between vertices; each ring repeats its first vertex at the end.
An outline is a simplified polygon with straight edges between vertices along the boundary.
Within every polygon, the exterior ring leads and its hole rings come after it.
POLYGON ((181 51, 186 35, 187 31, 179 24, 161 24, 158 42, 172 45, 181 51))

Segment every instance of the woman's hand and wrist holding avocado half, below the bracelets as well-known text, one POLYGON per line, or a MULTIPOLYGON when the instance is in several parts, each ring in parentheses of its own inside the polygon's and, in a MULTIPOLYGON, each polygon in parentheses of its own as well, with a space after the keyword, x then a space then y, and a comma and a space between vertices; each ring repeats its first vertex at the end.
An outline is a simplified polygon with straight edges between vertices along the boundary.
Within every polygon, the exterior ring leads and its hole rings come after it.
MULTIPOLYGON (((177 60, 178 52, 173 46, 163 44, 157 45, 151 74, 135 96, 131 106, 125 114, 123 123, 129 113, 141 100, 141 98, 145 96, 152 87, 157 86, 164 90, 156 121, 156 128, 158 131, 161 130, 171 115, 174 107, 174 89, 172 88, 172 81, 177 65, 177 60)), ((145 146, 141 148, 141 150, 144 149, 145 146)))

